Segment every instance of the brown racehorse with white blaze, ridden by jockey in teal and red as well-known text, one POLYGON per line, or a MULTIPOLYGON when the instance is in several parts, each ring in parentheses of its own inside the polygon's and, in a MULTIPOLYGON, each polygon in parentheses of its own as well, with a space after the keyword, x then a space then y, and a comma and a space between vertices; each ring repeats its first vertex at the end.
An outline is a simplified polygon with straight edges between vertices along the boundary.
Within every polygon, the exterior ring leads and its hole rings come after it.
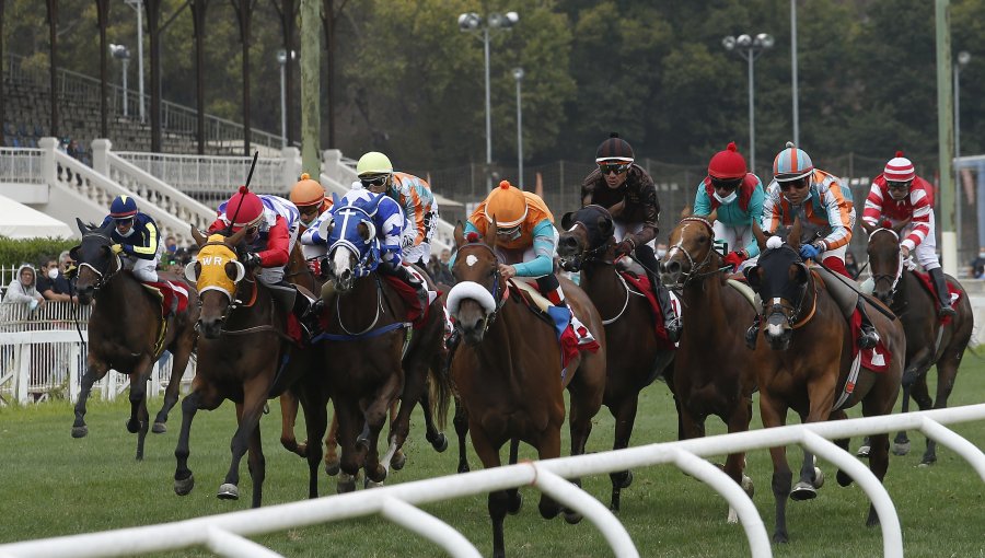
MULTIPOLYGON (((674 359, 673 388, 680 418, 679 438, 705 435, 705 419, 715 415, 729 432, 749 430, 756 372, 744 332, 756 315, 752 301, 728 283, 721 254, 715 249, 715 211, 685 214, 671 231, 660 263, 661 281, 677 292, 685 324, 674 359)), ((725 472, 752 496, 744 474, 745 453, 729 454, 725 472)), ((729 510, 729 522, 738 521, 729 510)))

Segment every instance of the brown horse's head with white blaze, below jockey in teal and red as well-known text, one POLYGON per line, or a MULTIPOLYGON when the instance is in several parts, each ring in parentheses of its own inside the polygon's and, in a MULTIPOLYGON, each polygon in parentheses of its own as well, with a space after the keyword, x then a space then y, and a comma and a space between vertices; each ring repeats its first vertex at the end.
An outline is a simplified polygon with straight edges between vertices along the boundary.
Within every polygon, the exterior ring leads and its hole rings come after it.
POLYGON ((671 231, 667 254, 660 261, 660 282, 668 288, 683 287, 700 275, 716 271, 720 265, 711 229, 718 212, 711 211, 707 216, 685 213, 671 231))

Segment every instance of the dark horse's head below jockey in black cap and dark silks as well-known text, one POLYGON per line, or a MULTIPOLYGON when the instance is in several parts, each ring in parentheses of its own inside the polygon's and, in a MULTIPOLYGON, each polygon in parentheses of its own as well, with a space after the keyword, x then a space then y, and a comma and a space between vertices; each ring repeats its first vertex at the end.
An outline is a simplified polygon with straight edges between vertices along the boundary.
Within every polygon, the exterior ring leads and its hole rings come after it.
POLYGON ((611 261, 615 245, 615 226, 609 210, 602 206, 586 206, 565 213, 557 240, 557 255, 567 271, 580 271, 586 261, 611 261))

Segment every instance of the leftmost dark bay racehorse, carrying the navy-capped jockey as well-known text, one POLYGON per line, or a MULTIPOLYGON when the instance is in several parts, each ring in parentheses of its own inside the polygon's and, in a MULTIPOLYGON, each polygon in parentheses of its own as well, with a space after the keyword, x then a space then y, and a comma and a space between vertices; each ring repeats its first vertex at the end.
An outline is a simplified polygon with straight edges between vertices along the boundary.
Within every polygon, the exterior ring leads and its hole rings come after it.
MULTIPOLYGON (((132 272, 121 269, 119 257, 111 251, 113 222, 102 229, 85 225, 80 219, 76 222, 82 233, 82 243, 71 251, 71 257, 79 266, 76 280, 79 302, 89 304, 97 299, 99 304, 94 305, 89 318, 89 354, 82 390, 76 403, 72 438, 83 438, 89 433, 84 418, 85 403, 92 384, 102 380, 112 368, 130 377, 127 430, 137 433, 137 458, 142 460, 150 419, 147 381, 161 352, 165 349, 171 351, 171 380, 164 391, 164 405, 153 425, 153 431, 162 433, 166 431, 167 414, 178 399, 182 375, 195 349, 197 298, 189 292, 187 306, 162 324, 161 302, 141 286, 132 272)), ((175 276, 161 276, 181 282, 175 276)))

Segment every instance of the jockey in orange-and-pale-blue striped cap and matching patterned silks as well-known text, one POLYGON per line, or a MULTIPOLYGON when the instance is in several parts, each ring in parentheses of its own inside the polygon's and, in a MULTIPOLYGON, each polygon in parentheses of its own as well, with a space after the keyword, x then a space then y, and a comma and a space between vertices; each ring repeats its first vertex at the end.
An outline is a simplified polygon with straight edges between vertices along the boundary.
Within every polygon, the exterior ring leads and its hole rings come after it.
MULTIPOLYGON (((763 230, 773 234, 780 226, 790 226, 800 217, 804 226, 818 228, 818 236, 813 242, 800 245, 800 257, 823 263, 832 271, 836 271, 851 281, 845 269, 845 252, 851 241, 851 228, 855 225, 855 204, 851 190, 843 189, 841 181, 820 168, 814 168, 811 158, 802 149, 787 142, 773 161, 774 179, 766 188, 766 201, 763 206, 763 230)), ((858 310, 861 314, 861 333, 858 346, 871 349, 879 342, 879 334, 866 313, 864 299, 858 298, 858 310)), ((745 342, 755 348, 758 335, 760 316, 745 333, 745 342)))

